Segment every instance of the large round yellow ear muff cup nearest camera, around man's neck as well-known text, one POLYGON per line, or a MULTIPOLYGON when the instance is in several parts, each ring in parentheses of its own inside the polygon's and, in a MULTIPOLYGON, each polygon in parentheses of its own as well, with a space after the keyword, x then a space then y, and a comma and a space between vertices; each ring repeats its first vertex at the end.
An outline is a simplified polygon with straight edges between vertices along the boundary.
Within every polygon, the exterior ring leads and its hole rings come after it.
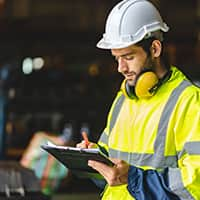
POLYGON ((152 71, 141 74, 135 85, 135 94, 139 98, 149 98, 154 95, 159 79, 152 71))

